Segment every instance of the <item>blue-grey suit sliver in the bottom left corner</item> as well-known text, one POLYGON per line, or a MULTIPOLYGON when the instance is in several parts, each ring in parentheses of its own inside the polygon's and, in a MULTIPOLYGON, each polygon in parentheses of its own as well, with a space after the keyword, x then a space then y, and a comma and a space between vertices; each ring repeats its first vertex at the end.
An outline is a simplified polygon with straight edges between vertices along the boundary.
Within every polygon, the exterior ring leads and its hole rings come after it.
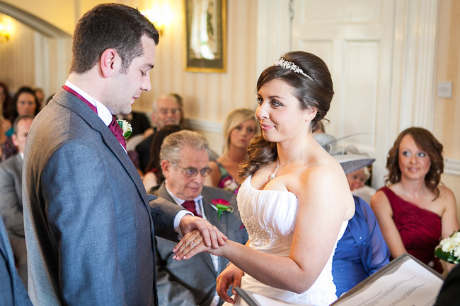
POLYGON ((14 267, 13 251, 4 223, 0 220, 0 305, 32 306, 14 267))

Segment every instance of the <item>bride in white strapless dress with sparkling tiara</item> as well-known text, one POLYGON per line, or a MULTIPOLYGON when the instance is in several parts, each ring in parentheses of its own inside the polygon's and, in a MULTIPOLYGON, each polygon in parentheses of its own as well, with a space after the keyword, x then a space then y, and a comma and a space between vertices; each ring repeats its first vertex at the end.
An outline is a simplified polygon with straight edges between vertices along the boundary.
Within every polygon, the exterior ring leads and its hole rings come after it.
POLYGON ((217 293, 231 304, 240 305, 226 293, 233 285, 286 302, 330 305, 337 299, 332 258, 355 203, 342 167, 312 136, 333 97, 328 67, 314 54, 289 52, 263 71, 257 90, 262 135, 248 147, 237 197, 249 240, 212 249, 189 233, 176 259, 202 250, 229 259, 217 293))

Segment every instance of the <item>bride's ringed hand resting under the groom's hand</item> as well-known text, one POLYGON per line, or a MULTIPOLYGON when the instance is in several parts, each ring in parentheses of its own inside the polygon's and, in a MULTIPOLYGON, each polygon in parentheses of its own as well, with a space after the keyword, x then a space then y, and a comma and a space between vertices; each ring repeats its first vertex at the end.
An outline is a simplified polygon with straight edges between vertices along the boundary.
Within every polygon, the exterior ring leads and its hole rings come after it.
POLYGON ((174 247, 173 252, 176 254, 173 255, 173 259, 177 261, 180 259, 190 259, 200 252, 222 256, 222 248, 214 249, 213 247, 207 247, 201 233, 198 230, 192 230, 174 247))

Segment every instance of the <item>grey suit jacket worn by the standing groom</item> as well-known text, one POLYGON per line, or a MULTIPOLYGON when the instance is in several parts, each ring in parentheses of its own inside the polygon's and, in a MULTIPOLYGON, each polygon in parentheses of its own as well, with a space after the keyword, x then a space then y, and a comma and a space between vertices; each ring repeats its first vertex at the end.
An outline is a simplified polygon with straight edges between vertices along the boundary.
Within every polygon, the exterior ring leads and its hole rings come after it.
POLYGON ((59 90, 30 127, 23 172, 35 306, 157 305, 154 233, 176 240, 178 207, 147 196, 96 113, 59 90))

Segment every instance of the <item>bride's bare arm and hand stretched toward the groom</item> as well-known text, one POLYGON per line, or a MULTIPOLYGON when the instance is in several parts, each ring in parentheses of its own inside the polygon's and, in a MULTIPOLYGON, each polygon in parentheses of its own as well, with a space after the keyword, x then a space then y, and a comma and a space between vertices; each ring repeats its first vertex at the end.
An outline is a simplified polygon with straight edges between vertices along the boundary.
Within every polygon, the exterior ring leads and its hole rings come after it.
MULTIPOLYGON (((343 172, 338 171, 316 167, 301 175, 301 184, 294 191, 299 210, 289 257, 258 252, 229 240, 219 249, 198 245, 192 248, 193 252, 205 249, 224 256, 268 286, 303 293, 326 265, 343 220, 352 216, 350 207, 354 208, 355 204, 343 172)), ((189 244, 195 237, 187 239, 183 249, 176 248, 178 259, 190 250, 189 244)))

